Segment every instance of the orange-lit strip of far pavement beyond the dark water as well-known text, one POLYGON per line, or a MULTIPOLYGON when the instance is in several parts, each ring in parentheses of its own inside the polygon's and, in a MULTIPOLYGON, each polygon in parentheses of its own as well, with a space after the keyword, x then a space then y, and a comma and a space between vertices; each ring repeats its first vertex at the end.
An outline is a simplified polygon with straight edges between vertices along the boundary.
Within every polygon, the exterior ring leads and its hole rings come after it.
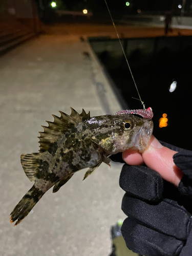
MULTIPOLYGON (((123 23, 121 21, 121 23, 123 23)), ((135 38, 135 37, 158 37, 164 36, 164 27, 162 25, 157 26, 155 23, 138 23, 138 22, 126 22, 124 25, 117 25, 116 28, 120 38, 135 38)), ((55 24, 52 26, 42 26, 42 29, 50 35, 64 35, 73 37, 76 36, 110 36, 111 38, 117 38, 116 32, 112 24, 110 25, 98 25, 98 24, 55 24)), ((172 32, 168 32, 166 36, 178 36, 185 35, 191 36, 192 30, 184 29, 183 27, 174 27, 172 32)))

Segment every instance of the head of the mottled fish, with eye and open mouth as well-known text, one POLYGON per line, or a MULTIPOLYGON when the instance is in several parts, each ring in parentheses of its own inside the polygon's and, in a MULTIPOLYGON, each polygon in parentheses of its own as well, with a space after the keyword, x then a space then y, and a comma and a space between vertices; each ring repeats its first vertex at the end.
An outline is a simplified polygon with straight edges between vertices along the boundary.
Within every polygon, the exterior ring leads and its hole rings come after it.
POLYGON ((99 117, 99 125, 91 138, 106 153, 113 155, 129 148, 143 152, 153 133, 152 119, 132 114, 99 117))

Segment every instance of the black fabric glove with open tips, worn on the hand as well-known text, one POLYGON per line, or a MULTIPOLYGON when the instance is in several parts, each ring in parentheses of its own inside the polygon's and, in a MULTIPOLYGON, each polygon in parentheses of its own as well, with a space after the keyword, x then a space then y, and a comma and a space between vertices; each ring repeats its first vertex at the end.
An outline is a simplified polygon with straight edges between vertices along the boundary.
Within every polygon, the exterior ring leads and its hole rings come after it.
POLYGON ((124 164, 119 184, 126 191, 121 231, 127 247, 145 256, 192 255, 192 152, 178 151, 175 164, 184 177, 179 187, 163 181, 146 166, 124 164))

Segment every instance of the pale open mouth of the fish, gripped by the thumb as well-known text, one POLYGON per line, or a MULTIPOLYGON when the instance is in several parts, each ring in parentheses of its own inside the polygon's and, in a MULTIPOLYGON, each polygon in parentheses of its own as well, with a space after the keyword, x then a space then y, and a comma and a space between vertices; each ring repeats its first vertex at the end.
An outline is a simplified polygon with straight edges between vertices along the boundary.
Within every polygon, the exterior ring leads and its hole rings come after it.
POLYGON ((135 137, 134 147, 139 150, 140 153, 144 152, 144 150, 148 147, 148 143, 150 143, 150 139, 153 133, 153 121, 144 120, 143 125, 140 127, 140 130, 137 132, 135 137))

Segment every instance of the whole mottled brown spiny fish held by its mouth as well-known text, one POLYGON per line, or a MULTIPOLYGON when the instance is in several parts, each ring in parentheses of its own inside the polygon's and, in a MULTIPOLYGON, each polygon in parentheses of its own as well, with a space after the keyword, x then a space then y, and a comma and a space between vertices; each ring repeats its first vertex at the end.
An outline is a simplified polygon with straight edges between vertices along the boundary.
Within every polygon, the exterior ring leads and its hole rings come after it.
POLYGON ((52 115, 39 132, 38 153, 22 154, 20 161, 25 174, 34 185, 11 212, 10 222, 19 224, 41 197, 53 186, 56 193, 80 169, 89 168, 86 179, 109 156, 129 148, 143 152, 153 132, 151 118, 117 112, 114 115, 91 117, 82 109, 79 114, 71 108, 71 115, 60 112, 52 115))

